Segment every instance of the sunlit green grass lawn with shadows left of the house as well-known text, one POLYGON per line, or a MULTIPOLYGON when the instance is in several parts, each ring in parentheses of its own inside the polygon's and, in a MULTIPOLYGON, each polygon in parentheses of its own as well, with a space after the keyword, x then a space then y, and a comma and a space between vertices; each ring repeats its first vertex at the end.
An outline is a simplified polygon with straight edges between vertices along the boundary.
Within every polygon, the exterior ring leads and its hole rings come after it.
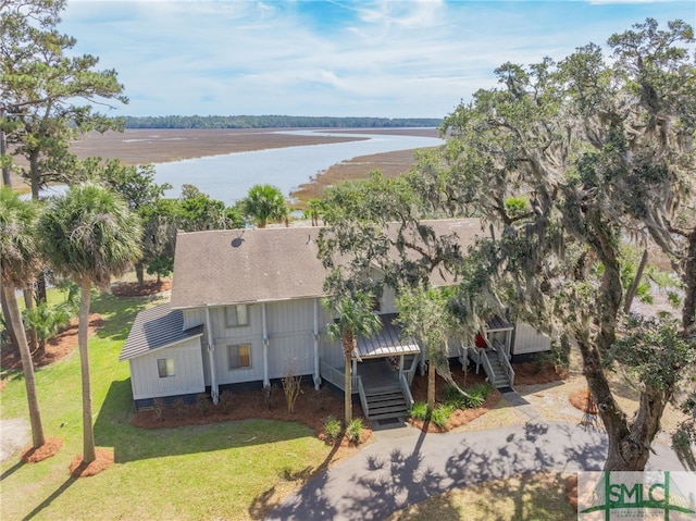
MULTIPOLYGON (((46 435, 63 439, 57 456, 0 466, 0 519, 259 519, 301 479, 324 463, 331 447, 294 422, 249 420, 178 429, 140 430, 127 362, 119 353, 135 314, 152 302, 102 295, 92 311, 107 319, 90 338, 95 437, 115 463, 92 477, 70 477, 82 452, 79 356, 37 370, 46 435)), ((9 373, 1 417, 28 418, 21 373, 9 373)))

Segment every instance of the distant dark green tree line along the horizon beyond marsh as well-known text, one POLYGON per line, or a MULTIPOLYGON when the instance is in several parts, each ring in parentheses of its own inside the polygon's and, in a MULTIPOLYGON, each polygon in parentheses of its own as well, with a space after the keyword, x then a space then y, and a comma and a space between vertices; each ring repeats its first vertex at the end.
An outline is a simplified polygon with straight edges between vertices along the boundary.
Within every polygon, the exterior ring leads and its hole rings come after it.
POLYGON ((123 117, 126 128, 407 128, 438 127, 442 117, 306 115, 148 115, 123 117))

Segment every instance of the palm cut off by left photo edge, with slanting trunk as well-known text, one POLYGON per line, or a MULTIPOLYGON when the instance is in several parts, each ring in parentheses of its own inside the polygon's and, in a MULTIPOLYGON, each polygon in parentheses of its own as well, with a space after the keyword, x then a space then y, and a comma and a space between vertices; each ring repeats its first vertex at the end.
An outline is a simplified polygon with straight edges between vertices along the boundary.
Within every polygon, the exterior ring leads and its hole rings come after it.
POLYGON ((0 281, 8 308, 8 320, 15 332, 24 385, 29 406, 32 446, 39 448, 46 443, 39 402, 36 396, 34 362, 27 344, 15 290, 26 287, 39 270, 34 225, 37 211, 34 203, 22 201, 9 186, 0 188, 0 281))

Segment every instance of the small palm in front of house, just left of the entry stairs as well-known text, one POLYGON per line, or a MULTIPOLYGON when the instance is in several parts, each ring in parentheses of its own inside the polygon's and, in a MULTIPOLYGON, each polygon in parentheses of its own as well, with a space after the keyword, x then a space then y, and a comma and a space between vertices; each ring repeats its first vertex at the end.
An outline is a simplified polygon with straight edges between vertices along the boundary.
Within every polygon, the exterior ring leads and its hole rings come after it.
POLYGON ((327 297, 324 306, 338 314, 338 319, 328 324, 327 332, 332 338, 340 339, 344 349, 345 422, 348 425, 352 420, 350 368, 358 337, 370 336, 380 331, 382 320, 373 312, 374 297, 364 290, 327 297))

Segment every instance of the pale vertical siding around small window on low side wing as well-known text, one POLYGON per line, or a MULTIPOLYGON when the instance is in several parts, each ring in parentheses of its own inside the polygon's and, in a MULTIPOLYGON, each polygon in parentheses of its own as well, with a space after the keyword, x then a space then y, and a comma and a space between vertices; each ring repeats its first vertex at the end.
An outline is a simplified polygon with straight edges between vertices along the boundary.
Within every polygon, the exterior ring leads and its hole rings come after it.
POLYGON ((128 360, 133 398, 161 398, 202 393, 206 390, 200 337, 128 360), (161 377, 159 359, 174 360, 174 376, 161 377))

